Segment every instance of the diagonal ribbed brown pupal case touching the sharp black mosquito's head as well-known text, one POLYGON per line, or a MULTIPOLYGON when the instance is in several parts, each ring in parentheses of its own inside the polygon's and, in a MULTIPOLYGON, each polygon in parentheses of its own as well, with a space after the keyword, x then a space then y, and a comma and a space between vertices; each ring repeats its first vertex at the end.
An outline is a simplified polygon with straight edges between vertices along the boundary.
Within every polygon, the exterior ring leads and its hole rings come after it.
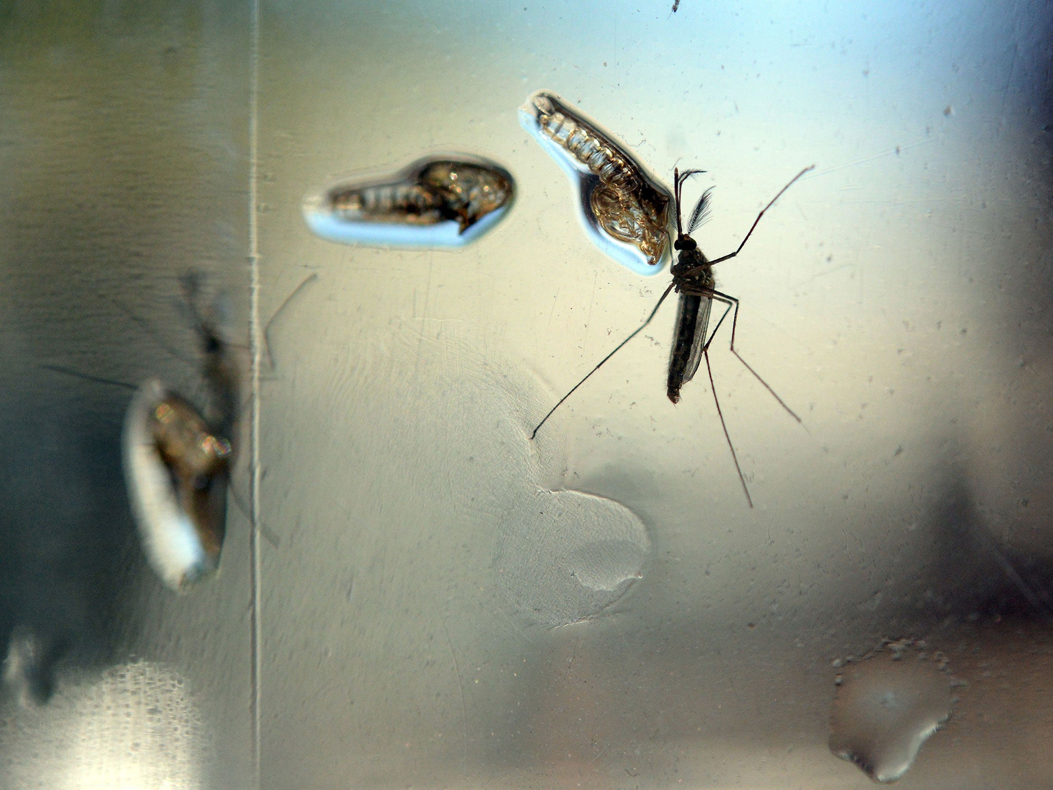
POLYGON ((668 250, 669 190, 610 132, 550 91, 519 113, 523 127, 570 176, 593 241, 637 274, 655 274, 668 250))

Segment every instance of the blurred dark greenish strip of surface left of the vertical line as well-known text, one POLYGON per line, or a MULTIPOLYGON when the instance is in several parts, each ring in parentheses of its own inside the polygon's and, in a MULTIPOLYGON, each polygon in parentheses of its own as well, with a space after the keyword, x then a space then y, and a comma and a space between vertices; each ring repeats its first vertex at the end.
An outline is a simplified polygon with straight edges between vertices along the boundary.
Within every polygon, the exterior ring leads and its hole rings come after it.
POLYGON ((124 493, 131 391, 42 367, 198 400, 192 271, 247 337, 247 22, 211 2, 0 8, 5 789, 250 786, 245 519, 232 505, 220 576, 172 595, 124 493))

